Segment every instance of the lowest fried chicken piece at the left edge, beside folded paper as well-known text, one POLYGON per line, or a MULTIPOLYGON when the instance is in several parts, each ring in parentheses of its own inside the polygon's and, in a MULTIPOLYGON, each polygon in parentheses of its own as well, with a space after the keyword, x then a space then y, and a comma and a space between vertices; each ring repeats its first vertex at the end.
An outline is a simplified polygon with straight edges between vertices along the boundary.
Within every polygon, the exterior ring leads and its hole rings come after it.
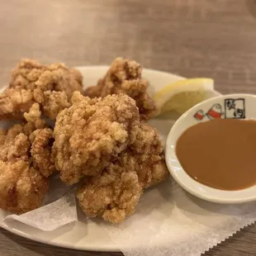
POLYGON ((0 208, 22 214, 40 207, 48 180, 24 160, 0 160, 0 208))

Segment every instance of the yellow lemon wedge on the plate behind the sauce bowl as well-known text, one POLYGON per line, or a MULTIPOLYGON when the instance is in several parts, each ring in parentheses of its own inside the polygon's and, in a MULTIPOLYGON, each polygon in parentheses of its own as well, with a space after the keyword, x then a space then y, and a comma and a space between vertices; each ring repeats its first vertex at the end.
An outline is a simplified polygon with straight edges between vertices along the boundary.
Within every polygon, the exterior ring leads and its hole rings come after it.
POLYGON ((158 116, 170 111, 183 114, 189 108, 207 98, 208 92, 214 89, 214 80, 211 78, 183 79, 171 83, 156 92, 153 96, 158 116))

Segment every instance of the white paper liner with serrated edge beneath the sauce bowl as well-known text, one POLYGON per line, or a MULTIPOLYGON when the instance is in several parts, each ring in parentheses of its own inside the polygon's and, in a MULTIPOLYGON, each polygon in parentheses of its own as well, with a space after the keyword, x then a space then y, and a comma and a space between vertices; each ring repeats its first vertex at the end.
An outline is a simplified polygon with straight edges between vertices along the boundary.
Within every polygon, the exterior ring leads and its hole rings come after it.
POLYGON ((168 181, 146 192, 123 223, 102 226, 126 256, 196 256, 255 220, 255 202, 202 201, 168 181))

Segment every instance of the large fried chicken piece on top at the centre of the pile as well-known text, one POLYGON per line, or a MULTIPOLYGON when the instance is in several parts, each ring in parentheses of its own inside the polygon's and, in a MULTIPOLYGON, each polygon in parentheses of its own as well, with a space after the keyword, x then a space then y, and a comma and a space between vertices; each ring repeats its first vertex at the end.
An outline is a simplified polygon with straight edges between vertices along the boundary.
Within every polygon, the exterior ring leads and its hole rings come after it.
POLYGON ((111 164, 135 140, 140 122, 135 101, 126 94, 91 99, 74 92, 71 102, 57 116, 52 154, 67 184, 111 164))

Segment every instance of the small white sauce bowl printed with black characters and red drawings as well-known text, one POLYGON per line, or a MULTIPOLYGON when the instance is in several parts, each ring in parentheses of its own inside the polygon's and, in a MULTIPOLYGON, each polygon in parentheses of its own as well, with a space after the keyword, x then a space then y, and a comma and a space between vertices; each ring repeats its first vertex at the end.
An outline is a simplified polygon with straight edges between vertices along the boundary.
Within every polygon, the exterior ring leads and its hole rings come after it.
MULTIPOLYGON (((173 125, 166 141, 165 160, 168 170, 174 180, 183 187, 183 189, 206 201, 225 204, 255 201, 256 184, 254 187, 248 187, 238 191, 225 191, 207 187, 191 178, 178 162, 175 146, 179 136, 183 134, 183 131, 198 122, 209 121, 214 118, 256 119, 256 96, 251 94, 230 94, 213 97, 197 104, 184 113, 173 125)), ((200 138, 198 138, 198 140, 200 140, 200 138)), ((198 156, 198 158, 200 158, 200 156, 198 156)), ((234 160, 237 161, 237 159, 234 160)))

